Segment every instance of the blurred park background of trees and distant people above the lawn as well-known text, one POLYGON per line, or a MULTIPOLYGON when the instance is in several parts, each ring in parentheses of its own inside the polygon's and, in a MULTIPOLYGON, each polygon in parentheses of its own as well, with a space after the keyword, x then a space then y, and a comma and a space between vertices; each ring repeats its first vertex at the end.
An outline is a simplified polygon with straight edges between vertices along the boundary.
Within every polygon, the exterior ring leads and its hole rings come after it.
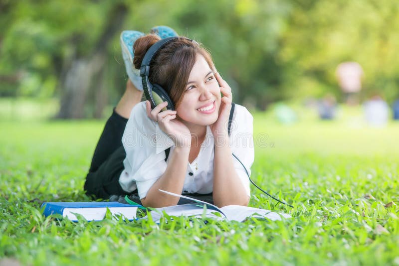
POLYGON ((127 81, 120 32, 168 25, 210 50, 249 110, 289 124, 354 107, 385 125, 399 112, 398 11, 398 0, 0 0, 0 118, 106 118, 127 81))

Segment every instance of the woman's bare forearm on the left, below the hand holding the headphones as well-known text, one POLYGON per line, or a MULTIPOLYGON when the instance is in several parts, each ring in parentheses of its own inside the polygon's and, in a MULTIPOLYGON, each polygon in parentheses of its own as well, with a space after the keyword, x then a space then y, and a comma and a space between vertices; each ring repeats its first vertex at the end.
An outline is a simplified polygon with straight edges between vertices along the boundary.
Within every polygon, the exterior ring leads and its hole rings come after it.
POLYGON ((162 193, 158 189, 182 194, 186 178, 187 162, 189 161, 190 147, 175 147, 164 174, 154 183, 141 202, 146 207, 160 208, 173 206, 179 198, 162 193))

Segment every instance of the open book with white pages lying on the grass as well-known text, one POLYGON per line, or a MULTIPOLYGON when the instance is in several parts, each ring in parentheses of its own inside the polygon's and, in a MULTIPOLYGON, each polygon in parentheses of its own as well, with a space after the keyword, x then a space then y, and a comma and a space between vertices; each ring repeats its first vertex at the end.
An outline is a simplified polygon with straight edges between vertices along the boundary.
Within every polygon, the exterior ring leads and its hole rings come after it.
POLYGON ((229 205, 218 208, 213 204, 198 199, 194 199, 188 196, 175 194, 161 189, 159 191, 176 197, 192 200, 193 203, 153 209, 153 211, 151 212, 151 216, 154 222, 156 223, 159 222, 161 217, 163 217, 164 212, 169 216, 188 216, 188 217, 201 217, 204 214, 208 218, 214 218, 218 220, 225 219, 228 221, 238 221, 238 222, 242 222, 248 217, 269 219, 272 221, 281 220, 282 218, 291 218, 291 216, 288 214, 276 213, 269 210, 239 206, 239 205, 229 205), (203 206, 206 206, 205 213, 203 206))

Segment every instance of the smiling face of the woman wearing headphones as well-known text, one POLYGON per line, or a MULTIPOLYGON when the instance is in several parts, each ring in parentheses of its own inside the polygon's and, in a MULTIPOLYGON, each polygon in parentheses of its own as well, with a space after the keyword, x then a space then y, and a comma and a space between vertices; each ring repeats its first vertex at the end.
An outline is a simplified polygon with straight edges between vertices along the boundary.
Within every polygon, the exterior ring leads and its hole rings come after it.
POLYGON ((213 71, 202 55, 197 54, 185 95, 177 107, 180 120, 189 127, 207 126, 216 122, 220 107, 220 88, 213 71))

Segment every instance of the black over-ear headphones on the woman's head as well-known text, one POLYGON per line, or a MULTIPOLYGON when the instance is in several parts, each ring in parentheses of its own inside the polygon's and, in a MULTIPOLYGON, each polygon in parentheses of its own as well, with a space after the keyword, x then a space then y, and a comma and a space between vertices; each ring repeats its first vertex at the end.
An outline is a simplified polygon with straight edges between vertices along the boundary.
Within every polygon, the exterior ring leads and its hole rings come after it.
POLYGON ((154 109, 157 105, 166 101, 168 102, 168 106, 162 109, 162 111, 175 110, 175 105, 172 102, 171 98, 169 97, 168 93, 160 85, 151 84, 148 77, 150 75, 150 63, 153 57, 162 47, 164 47, 166 44, 178 38, 185 38, 194 43, 197 43, 195 40, 186 37, 169 37, 159 40, 156 43, 154 43, 150 47, 150 49, 148 49, 148 51, 144 55, 143 61, 141 62, 140 76, 143 82, 144 95, 146 96, 146 99, 150 101, 151 109, 154 109))

